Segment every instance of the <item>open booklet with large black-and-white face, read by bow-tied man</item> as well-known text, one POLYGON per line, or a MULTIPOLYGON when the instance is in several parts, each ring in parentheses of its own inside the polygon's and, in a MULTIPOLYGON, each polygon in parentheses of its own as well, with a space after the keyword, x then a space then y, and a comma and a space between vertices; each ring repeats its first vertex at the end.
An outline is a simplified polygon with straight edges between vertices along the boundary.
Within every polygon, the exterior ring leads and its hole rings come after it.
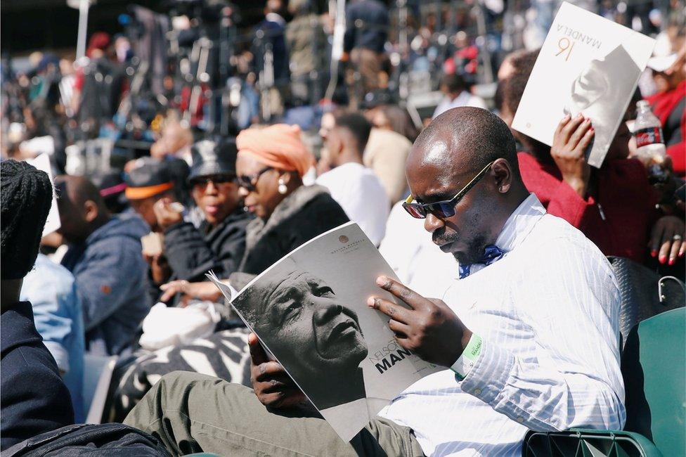
MULTIPOLYGON (((350 441, 403 390, 445 368, 396 342, 372 295, 398 303, 378 276, 396 278, 349 222, 298 247, 237 292, 208 276, 331 427, 350 441)), ((404 305, 404 304, 403 304, 404 305)))

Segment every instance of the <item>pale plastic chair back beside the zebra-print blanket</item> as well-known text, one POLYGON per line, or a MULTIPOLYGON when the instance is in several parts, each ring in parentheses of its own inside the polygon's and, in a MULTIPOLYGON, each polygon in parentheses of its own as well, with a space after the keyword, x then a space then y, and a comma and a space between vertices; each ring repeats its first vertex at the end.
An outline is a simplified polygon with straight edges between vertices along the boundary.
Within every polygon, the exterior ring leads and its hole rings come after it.
POLYGON ((87 424, 99 424, 117 356, 84 355, 84 409, 87 424))

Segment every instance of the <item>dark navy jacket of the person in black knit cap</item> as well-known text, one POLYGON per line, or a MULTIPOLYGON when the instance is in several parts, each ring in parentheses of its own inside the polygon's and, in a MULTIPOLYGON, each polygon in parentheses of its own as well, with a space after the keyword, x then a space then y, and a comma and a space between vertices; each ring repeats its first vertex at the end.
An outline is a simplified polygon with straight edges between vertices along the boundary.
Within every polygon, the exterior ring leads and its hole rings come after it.
POLYGON ((43 344, 30 302, 0 316, 0 449, 74 423, 69 390, 43 344))

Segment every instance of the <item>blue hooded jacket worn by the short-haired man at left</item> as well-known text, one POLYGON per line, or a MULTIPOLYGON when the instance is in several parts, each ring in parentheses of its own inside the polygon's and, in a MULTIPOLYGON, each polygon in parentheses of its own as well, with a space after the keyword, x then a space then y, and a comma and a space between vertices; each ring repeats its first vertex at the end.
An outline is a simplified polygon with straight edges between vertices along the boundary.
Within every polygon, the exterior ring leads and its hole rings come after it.
POLYGON ((138 217, 113 217, 62 259, 76 278, 89 352, 122 352, 150 311, 148 264, 141 254, 147 233, 138 217))

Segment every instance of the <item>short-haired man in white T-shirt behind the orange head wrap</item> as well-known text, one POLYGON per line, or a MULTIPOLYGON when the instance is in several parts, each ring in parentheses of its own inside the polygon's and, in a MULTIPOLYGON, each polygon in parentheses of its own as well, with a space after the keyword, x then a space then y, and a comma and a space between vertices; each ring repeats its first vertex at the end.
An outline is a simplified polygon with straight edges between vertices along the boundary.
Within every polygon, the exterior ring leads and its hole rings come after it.
POLYGON ((330 171, 317 178, 331 196, 356 221, 375 245, 386 231, 389 200, 379 178, 363 165, 364 148, 372 128, 360 114, 339 115, 325 138, 325 157, 330 171))

